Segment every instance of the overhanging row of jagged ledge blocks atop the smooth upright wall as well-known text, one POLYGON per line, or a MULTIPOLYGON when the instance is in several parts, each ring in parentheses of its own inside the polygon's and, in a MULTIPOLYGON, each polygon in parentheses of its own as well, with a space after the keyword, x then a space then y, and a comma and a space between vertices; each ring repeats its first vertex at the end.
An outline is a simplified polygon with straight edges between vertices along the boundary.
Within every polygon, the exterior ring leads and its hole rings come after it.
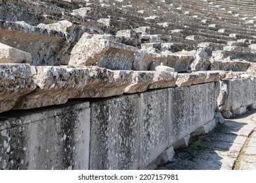
POLYGON ((110 97, 148 89, 217 82, 222 78, 255 78, 252 73, 198 71, 112 71, 100 67, 53 67, 1 64, 0 112, 66 103, 70 98, 110 97), (95 88, 95 86, 97 86, 95 88), (6 93, 11 93, 6 95, 6 93))

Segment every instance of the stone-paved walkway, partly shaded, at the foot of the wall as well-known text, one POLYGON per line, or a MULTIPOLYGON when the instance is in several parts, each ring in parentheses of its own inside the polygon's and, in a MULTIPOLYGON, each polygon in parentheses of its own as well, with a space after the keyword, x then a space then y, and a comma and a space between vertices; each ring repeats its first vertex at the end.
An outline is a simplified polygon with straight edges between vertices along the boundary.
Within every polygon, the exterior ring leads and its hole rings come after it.
POLYGON ((225 120, 211 133, 196 137, 186 149, 175 150, 161 170, 256 170, 256 110, 225 120))

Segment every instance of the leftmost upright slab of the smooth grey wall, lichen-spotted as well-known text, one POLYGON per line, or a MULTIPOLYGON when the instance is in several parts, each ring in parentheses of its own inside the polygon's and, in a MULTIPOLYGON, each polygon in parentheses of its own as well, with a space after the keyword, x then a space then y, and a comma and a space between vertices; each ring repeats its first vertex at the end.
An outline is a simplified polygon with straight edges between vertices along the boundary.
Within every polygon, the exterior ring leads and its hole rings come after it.
POLYGON ((89 169, 89 103, 3 115, 0 169, 89 169))

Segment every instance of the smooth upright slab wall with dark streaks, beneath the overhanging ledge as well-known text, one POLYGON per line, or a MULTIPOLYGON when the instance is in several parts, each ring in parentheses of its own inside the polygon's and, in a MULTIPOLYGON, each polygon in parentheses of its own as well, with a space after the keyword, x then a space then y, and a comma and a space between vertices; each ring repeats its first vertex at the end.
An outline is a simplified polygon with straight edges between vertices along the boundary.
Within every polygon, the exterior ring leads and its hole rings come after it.
POLYGON ((4 112, 0 167, 143 169, 175 142, 213 120, 215 85, 4 112))

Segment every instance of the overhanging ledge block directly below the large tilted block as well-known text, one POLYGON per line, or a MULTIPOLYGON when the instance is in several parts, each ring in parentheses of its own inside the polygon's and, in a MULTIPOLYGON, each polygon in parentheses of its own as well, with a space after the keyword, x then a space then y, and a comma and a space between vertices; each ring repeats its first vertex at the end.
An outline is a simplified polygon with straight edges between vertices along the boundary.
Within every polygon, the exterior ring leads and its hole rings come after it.
POLYGON ((110 97, 122 95, 132 80, 133 71, 112 71, 100 67, 88 67, 89 73, 86 85, 77 90, 74 98, 83 97, 110 97))

